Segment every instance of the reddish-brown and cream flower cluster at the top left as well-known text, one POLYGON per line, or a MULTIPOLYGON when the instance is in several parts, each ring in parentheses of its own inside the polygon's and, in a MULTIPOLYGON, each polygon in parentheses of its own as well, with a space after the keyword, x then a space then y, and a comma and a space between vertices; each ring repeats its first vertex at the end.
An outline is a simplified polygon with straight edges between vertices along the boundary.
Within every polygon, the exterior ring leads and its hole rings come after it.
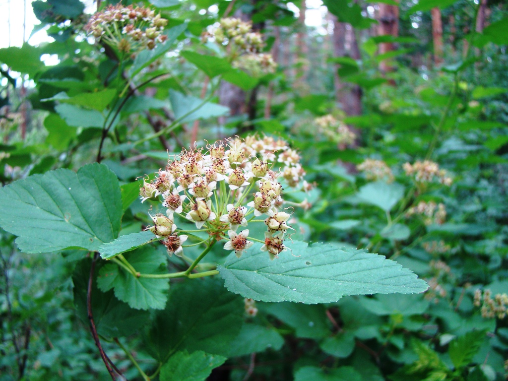
POLYGON ((145 7, 124 7, 120 3, 95 13, 85 26, 88 33, 122 52, 153 49, 166 41, 162 34, 168 20, 145 7))

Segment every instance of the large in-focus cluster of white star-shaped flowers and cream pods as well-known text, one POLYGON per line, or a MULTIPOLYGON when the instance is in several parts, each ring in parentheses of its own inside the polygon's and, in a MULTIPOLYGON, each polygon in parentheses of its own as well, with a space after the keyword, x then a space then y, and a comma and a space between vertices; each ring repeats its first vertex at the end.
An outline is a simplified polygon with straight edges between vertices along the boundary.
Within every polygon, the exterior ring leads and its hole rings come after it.
POLYGON ((169 160, 164 170, 151 181, 144 181, 142 201, 158 199, 166 214, 152 217, 148 229, 158 237, 168 252, 182 255, 182 243, 188 236, 177 231, 176 216, 185 218, 203 229, 217 241, 229 236, 226 250, 235 250, 238 257, 252 245, 247 227, 250 221, 264 222, 267 227, 261 248, 273 259, 285 250, 290 213, 280 210, 282 185, 298 186, 305 171, 300 156, 282 140, 254 136, 239 138, 207 147, 207 151, 183 150, 169 160), (256 217, 265 215, 263 220, 256 217))

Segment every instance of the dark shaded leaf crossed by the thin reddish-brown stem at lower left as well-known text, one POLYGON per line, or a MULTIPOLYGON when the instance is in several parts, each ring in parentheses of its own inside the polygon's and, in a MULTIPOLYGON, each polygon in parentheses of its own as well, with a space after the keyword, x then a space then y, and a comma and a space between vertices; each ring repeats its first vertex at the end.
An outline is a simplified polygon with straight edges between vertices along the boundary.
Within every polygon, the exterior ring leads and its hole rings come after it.
MULTIPOLYGON (((90 323, 87 308, 88 278, 91 260, 78 262, 72 275, 74 284, 74 306, 85 325, 90 323)), ((106 337, 129 336, 142 328, 149 318, 148 311, 132 309, 115 298, 113 291, 101 292, 95 279, 92 281, 91 308, 97 332, 106 337)))

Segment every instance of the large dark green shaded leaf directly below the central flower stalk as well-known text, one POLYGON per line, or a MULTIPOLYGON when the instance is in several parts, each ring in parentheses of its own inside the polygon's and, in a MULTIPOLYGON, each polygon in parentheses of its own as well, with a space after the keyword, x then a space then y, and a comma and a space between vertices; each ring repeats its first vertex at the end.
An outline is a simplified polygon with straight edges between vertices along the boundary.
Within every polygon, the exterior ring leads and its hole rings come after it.
POLYGON ((166 309, 155 315, 145 342, 157 361, 166 362, 183 348, 229 355, 242 327, 244 303, 216 279, 198 281, 198 287, 196 279, 172 287, 166 309))

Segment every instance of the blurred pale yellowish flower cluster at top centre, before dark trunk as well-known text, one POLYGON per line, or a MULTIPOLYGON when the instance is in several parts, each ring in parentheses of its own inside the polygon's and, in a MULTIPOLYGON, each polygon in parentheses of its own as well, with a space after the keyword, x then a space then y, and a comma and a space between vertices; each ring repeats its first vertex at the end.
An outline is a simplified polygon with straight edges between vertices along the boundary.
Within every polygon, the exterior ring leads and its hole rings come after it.
POLYGON ((253 76, 274 73, 277 64, 271 54, 261 53, 265 44, 258 32, 252 31, 252 23, 238 18, 223 18, 219 26, 203 33, 203 40, 213 39, 227 47, 227 54, 235 68, 253 76))

